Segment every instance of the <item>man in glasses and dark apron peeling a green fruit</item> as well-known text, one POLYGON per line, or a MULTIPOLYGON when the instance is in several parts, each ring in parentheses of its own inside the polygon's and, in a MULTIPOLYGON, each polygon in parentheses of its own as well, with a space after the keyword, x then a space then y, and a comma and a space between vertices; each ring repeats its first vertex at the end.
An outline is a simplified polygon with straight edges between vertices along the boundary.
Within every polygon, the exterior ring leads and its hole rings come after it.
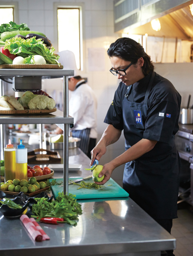
MULTIPOLYGON (((104 122, 109 126, 92 150, 93 164, 124 131, 125 152, 105 164, 98 175, 105 184, 125 164, 123 187, 130 198, 169 233, 177 218, 179 154, 174 135, 179 126, 181 96, 154 66, 143 47, 120 38, 108 49, 110 72, 120 79, 104 122)), ((167 255, 173 255, 168 251, 167 255)))

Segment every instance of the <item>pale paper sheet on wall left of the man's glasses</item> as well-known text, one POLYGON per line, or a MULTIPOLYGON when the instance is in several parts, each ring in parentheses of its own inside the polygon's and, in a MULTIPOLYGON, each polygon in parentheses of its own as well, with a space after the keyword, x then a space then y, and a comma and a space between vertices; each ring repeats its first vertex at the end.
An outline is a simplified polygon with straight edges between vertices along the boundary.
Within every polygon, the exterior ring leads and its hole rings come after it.
POLYGON ((105 48, 88 48, 88 71, 105 71, 105 48))

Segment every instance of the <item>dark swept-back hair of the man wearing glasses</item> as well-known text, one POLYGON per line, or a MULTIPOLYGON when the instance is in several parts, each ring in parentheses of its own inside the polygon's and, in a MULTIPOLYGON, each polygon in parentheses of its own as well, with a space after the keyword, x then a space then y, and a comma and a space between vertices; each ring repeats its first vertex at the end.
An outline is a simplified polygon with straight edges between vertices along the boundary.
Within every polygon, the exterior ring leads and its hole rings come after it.
POLYGON ((137 63, 138 58, 142 57, 144 60, 143 74, 147 75, 154 70, 150 56, 145 53, 140 43, 131 38, 122 37, 111 43, 107 54, 109 57, 120 57, 126 61, 134 62, 134 64, 137 63))

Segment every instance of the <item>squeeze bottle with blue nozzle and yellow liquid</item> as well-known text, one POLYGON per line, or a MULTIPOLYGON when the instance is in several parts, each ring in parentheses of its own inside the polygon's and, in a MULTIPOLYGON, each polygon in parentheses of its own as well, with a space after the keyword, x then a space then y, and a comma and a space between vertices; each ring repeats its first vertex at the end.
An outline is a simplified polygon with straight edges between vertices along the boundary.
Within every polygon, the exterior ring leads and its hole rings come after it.
POLYGON ((15 178, 28 180, 28 149, 22 144, 15 149, 15 178))

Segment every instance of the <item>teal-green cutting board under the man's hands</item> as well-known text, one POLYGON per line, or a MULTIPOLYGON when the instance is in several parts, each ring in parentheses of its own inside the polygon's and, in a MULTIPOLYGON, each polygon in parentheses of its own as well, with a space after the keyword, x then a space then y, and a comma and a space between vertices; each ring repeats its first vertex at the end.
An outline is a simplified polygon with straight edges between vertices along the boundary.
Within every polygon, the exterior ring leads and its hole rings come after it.
MULTIPOLYGON (((69 181, 70 180, 77 180, 77 178, 70 178, 69 181)), ((52 179, 50 179, 50 181, 52 181, 52 179)), ((56 182, 58 183, 62 181, 63 179, 56 179, 56 182)), ((93 182, 93 180, 91 179, 85 182, 93 182)), ((79 188, 79 186, 69 185, 69 193, 76 195, 76 199, 122 198, 129 196, 129 194, 111 178, 108 182, 105 183, 105 185, 103 185, 103 189, 77 188, 79 188)), ((59 187, 59 185, 51 186, 51 189, 55 198, 59 192, 63 191, 63 187, 59 187)))

